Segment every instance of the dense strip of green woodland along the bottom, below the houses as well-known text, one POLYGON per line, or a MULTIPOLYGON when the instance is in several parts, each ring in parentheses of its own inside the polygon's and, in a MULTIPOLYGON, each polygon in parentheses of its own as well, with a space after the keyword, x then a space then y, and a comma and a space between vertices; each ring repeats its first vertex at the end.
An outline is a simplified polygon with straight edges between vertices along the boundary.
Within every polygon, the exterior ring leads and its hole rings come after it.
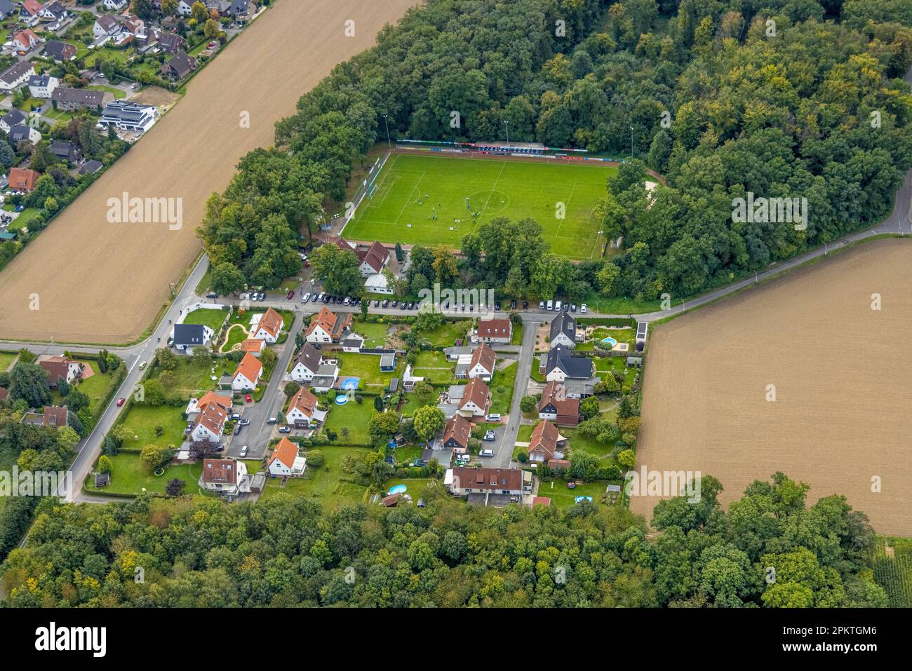
POLYGON ((885 606, 875 534, 841 496, 805 506, 782 473, 729 511, 720 483, 646 523, 622 506, 324 511, 280 494, 105 506, 45 500, 3 565, 13 606, 885 606))

